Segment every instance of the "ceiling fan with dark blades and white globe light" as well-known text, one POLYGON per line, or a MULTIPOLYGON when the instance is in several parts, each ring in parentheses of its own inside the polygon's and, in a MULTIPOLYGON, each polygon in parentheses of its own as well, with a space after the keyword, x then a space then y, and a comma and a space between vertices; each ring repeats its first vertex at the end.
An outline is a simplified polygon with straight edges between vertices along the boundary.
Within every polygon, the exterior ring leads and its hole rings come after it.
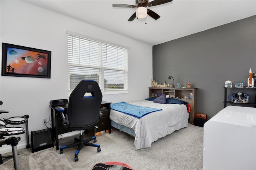
POLYGON ((132 14, 132 16, 128 19, 128 21, 133 21, 134 18, 146 18, 147 15, 151 16, 155 20, 160 18, 156 12, 146 8, 150 6, 156 6, 165 4, 167 2, 172 2, 172 0, 153 0, 148 2, 148 0, 135 0, 136 5, 126 5, 126 4, 112 4, 113 7, 121 7, 121 8, 137 8, 136 12, 132 14))

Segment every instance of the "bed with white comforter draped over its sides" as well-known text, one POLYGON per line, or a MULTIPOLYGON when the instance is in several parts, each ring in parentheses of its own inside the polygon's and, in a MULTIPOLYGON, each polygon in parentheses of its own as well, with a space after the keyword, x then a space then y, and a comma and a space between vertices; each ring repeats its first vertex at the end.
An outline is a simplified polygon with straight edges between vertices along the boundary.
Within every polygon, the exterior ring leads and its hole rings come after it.
POLYGON ((134 149, 148 148, 151 143, 188 126, 188 107, 184 104, 161 104, 152 100, 129 102, 129 104, 162 109, 140 119, 110 110, 111 126, 134 136, 134 149))

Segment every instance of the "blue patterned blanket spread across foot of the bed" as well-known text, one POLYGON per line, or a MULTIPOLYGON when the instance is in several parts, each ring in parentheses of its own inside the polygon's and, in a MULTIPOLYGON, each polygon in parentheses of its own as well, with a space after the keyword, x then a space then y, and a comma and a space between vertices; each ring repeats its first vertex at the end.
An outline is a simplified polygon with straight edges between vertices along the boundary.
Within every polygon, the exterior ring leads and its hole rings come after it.
POLYGON ((112 103, 110 105, 111 109, 115 111, 122 112, 124 114, 136 117, 137 119, 140 119, 141 117, 148 115, 148 113, 161 111, 162 109, 156 109, 152 107, 142 107, 142 106, 136 106, 129 103, 120 102, 120 103, 112 103))

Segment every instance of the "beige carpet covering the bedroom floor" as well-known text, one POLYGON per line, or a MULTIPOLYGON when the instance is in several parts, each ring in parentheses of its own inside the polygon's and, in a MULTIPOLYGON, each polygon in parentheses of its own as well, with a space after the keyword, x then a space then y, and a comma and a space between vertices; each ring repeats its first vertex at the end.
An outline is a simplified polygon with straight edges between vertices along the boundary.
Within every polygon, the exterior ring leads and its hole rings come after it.
MULTIPOLYGON (((69 137, 60 143, 73 141, 69 137)), ((90 170, 96 163, 112 161, 123 162, 136 170, 202 170, 203 167, 203 128, 191 124, 141 150, 134 150, 134 138, 117 129, 97 136, 97 144, 101 152, 96 147, 83 147, 78 162, 74 162, 76 147, 65 149, 64 154, 52 148, 34 153, 31 149, 18 150, 20 170, 90 170)), ((4 162, 0 169, 13 170, 13 160, 4 162)))

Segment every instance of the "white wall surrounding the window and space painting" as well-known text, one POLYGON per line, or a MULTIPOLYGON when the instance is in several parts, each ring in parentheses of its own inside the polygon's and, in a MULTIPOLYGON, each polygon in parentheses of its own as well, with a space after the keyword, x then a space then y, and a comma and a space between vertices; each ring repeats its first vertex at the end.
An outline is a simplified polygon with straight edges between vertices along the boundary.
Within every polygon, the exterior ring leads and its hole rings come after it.
MULTIPOLYGON (((29 132, 44 129, 46 127, 42 125, 42 118, 47 117, 49 120, 49 101, 68 99, 66 30, 130 48, 128 50, 128 93, 103 95, 102 100, 116 103, 138 101, 148 97, 148 87, 152 79, 151 45, 22 1, 0 1, 0 9, 1 44, 4 42, 52 51, 50 79, 0 77, 0 100, 3 101, 1 109, 10 111, 1 114, 1 119, 29 115, 29 132)), ((18 127, 25 127, 25 125, 18 125, 18 127)), ((48 127, 51 125, 48 124, 48 127)), ((18 136, 22 138, 18 148, 25 148, 26 134, 18 136)), ((2 153, 10 150, 10 146, 1 147, 2 153)))

